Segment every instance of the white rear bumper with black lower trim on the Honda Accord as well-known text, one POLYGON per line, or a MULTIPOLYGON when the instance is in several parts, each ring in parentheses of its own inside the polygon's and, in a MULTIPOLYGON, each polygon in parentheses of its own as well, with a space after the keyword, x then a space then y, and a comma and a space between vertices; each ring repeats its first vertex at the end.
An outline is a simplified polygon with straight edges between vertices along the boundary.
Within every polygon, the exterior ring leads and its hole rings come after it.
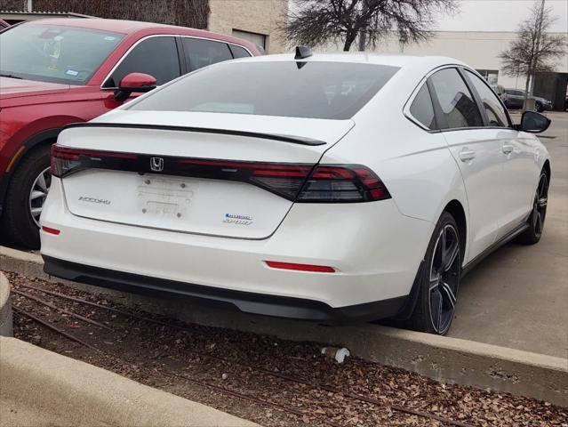
POLYGON ((434 229, 400 214, 390 199, 296 204, 272 236, 259 240, 155 230, 71 214, 56 178, 41 222, 60 230, 40 233, 53 276, 319 320, 392 316, 411 292, 434 229), (335 272, 280 270, 267 261, 335 272))

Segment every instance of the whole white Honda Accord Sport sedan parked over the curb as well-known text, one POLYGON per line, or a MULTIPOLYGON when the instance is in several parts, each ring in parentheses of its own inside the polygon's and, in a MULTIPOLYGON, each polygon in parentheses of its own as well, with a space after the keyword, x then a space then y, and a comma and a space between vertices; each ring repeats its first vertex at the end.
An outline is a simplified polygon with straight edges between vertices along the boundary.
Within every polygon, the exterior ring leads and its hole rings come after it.
POLYGON ((45 271, 325 323, 444 334, 460 278, 539 241, 547 117, 458 60, 264 56, 180 77, 52 147, 45 271))

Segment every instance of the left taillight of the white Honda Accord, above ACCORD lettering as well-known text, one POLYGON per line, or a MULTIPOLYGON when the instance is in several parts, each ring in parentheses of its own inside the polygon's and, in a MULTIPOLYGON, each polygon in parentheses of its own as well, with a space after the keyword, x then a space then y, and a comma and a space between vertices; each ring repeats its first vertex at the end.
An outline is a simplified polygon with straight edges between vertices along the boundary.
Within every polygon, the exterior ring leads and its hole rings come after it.
POLYGON ((62 178, 72 172, 100 167, 120 169, 124 160, 137 160, 138 156, 111 151, 92 151, 85 149, 65 149, 57 144, 51 149, 51 172, 53 176, 62 178), (114 166, 114 167, 113 167, 114 166))

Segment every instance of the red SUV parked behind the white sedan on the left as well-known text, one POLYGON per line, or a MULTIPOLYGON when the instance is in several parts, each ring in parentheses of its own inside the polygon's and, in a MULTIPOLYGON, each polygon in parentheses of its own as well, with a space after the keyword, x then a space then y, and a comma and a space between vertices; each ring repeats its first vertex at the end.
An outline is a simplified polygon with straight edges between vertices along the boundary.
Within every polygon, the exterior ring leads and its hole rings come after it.
POLYGON ((35 20, 0 32, 2 235, 39 246, 50 187, 49 148, 61 129, 137 93, 221 60, 260 55, 252 43, 147 22, 35 20))

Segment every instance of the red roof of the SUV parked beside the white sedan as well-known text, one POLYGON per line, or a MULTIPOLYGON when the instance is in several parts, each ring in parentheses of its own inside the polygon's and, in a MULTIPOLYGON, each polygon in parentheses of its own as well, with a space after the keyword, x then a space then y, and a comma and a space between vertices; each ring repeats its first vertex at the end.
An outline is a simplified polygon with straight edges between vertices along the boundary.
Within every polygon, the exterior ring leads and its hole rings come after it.
POLYGON ((60 25, 64 27, 99 29, 125 35, 133 35, 139 32, 156 34, 176 34, 181 36, 197 36, 215 38, 228 43, 242 44, 251 47, 254 44, 240 38, 212 33, 204 29, 178 27, 175 25, 156 24, 155 22, 142 22, 139 20, 105 20, 102 18, 47 18, 32 20, 21 25, 60 25))

